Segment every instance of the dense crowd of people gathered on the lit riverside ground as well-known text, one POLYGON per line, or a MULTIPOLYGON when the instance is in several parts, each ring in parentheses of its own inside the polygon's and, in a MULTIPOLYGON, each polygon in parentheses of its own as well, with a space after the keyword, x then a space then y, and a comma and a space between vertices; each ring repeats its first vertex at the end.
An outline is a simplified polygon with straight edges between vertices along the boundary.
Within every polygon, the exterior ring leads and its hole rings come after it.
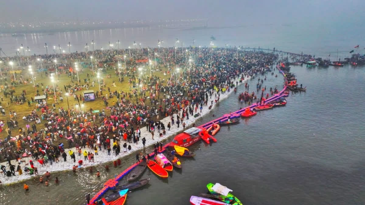
MULTIPOLYGON (((143 61, 149 58, 150 50, 147 48, 132 50, 132 56, 128 58, 124 71, 114 67, 123 58, 124 53, 129 53, 129 50, 96 51, 93 54, 81 52, 57 56, 56 58, 64 59, 63 67, 70 68, 76 59, 87 59, 92 54, 100 59, 97 63, 104 65, 103 70, 115 70, 115 75, 107 76, 108 78, 115 78, 116 82, 123 82, 124 78, 127 78, 130 90, 118 90, 118 86, 112 90, 113 86, 107 87, 105 81, 101 80, 101 89, 97 90, 96 99, 101 99, 105 108, 99 113, 93 112, 92 108, 81 111, 73 106, 69 110, 57 107, 57 101, 62 101, 65 93, 69 93, 74 101, 80 103, 84 97, 77 95, 76 92, 96 84, 94 73, 88 73, 84 81, 78 81, 74 70, 64 69, 58 75, 69 76, 70 82, 60 82, 64 84, 63 87, 53 88, 52 85, 43 84, 35 86, 36 95, 44 94, 47 97, 55 95, 56 98, 50 106, 31 109, 28 115, 23 116, 20 120, 26 122, 25 127, 12 126, 12 123, 17 124, 19 119, 14 116, 16 111, 11 111, 12 117, 6 129, 7 137, 0 142, 0 160, 8 161, 11 175, 14 175, 15 167, 11 165, 11 160, 16 159, 21 163, 21 158, 27 156, 31 156, 39 166, 43 166, 44 163, 62 163, 60 157, 66 161, 66 157, 69 156, 75 161, 75 155, 83 155, 84 159, 90 162, 97 158, 97 153, 101 150, 108 152, 108 155, 113 150, 113 153, 118 155, 120 151, 130 150, 131 143, 139 143, 142 127, 146 127, 145 130, 151 133, 152 139, 155 137, 155 130, 159 136, 164 136, 166 129, 170 130, 172 126, 181 125, 185 128, 185 119, 199 115, 204 106, 211 107, 214 102, 218 102, 220 94, 237 86, 238 81, 254 76, 255 73, 264 72, 264 68, 273 65, 277 58, 277 54, 274 53, 238 52, 234 49, 215 49, 212 53, 208 48, 201 51, 198 51, 198 48, 188 48, 188 50, 189 52, 177 49, 175 53, 174 48, 160 49, 159 62, 154 72, 167 67, 166 80, 156 76, 152 71, 151 74, 143 76, 138 74, 139 66, 149 66, 148 61, 143 61), (195 60, 191 63, 188 58, 195 60), (176 67, 181 67, 181 71, 177 71, 176 67), (109 105, 110 98, 116 98, 116 102, 109 105), (106 113, 107 110, 110 114, 106 113), (176 119, 174 113, 177 114, 176 119), (160 121, 164 117, 170 117, 167 125, 160 121), (76 147, 77 153, 66 153, 65 147, 76 147), (82 151, 86 147, 94 153, 82 151)), ((23 58, 28 58, 24 61, 36 61, 37 58, 51 61, 54 55, 23 58)), ((7 62, 14 59, 2 60, 7 62)), ((45 68, 52 66, 44 65, 45 68)), ((49 71, 42 73, 48 75, 49 71)), ((13 98, 14 93, 18 93, 17 84, 27 81, 25 76, 18 77, 18 81, 10 78, 15 92, 7 94, 8 98, 13 98)), ((10 86, 7 79, 3 79, 2 84, 10 86)), ((5 96, 5 89, 2 90, 5 96)), ((33 101, 34 97, 27 97, 24 91, 21 96, 29 101, 33 101)), ((144 146, 146 139, 143 138, 141 141, 144 146)), ((35 173, 34 162, 30 164, 31 167, 27 167, 24 171, 35 173)), ((22 169, 16 170, 22 174, 22 169)))

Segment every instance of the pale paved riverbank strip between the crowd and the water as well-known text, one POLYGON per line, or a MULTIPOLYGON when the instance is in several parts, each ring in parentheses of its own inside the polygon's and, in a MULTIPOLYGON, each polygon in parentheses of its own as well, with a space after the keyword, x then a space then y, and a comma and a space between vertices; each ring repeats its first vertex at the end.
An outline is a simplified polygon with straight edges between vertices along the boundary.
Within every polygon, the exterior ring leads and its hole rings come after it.
MULTIPOLYGON (((250 77, 245 78, 245 80, 243 82, 239 83, 239 85, 242 84, 242 83, 247 82, 249 79, 250 79, 250 77)), ((237 78, 235 78, 235 80, 238 81, 237 78)), ((227 98, 229 96, 229 94, 232 93, 232 92, 234 92, 234 89, 230 89, 229 92, 226 91, 225 93, 221 93, 218 102, 220 102, 223 99, 227 98)), ((215 99, 216 98, 214 98, 214 94, 212 94, 211 100, 215 101, 215 99)), ((218 104, 218 102, 217 103, 214 102, 213 105, 212 105, 212 108, 214 108, 218 104)), ((200 113, 200 116, 198 116, 198 117, 190 116, 189 119, 184 119, 184 122, 186 124, 185 128, 191 126, 200 117, 203 117, 204 115, 207 115, 212 109, 212 108, 209 109, 209 105, 210 105, 210 103, 208 102, 207 106, 203 106, 203 109, 200 113)), ((199 112, 199 109, 198 109, 198 112, 199 112)), ((176 114, 173 114, 173 116, 174 116, 174 119, 176 119, 176 114)), ((168 116, 168 117, 165 117, 164 119, 161 119, 160 121, 162 123, 164 123, 165 125, 167 125, 171 121, 170 119, 171 119, 170 116, 168 116)), ((146 138, 145 147, 151 146, 152 144, 164 141, 164 140, 168 139, 170 136, 173 136, 173 135, 177 134, 178 132, 183 131, 184 129, 183 129, 183 126, 181 124, 182 124, 182 122, 180 123, 179 128, 177 127, 176 124, 174 124, 174 125, 171 126, 170 130, 166 129, 166 135, 162 136, 162 137, 159 136, 159 134, 156 130, 155 135, 154 135, 154 139, 152 139, 151 133, 146 130, 146 127, 142 127, 141 128, 141 138, 140 139, 146 138)), ((111 155, 108 155, 107 150, 104 150, 103 148, 102 148, 102 150, 98 150, 98 155, 94 155, 94 159, 95 159, 94 162, 88 162, 88 160, 84 160, 84 156, 82 154, 80 156, 78 156, 76 148, 70 148, 70 149, 66 148, 65 149, 66 154, 68 154, 69 150, 72 150, 75 153, 76 162, 73 162, 73 159, 71 159, 70 156, 67 155, 66 162, 64 162, 64 159, 62 157, 59 157, 59 162, 58 163, 53 162, 52 165, 50 165, 50 163, 46 163, 45 165, 42 166, 37 160, 34 160, 34 158, 26 157, 26 158, 21 159, 20 166, 21 166, 22 170, 24 170, 24 167, 30 167, 30 165, 28 163, 29 163, 29 160, 32 160, 34 162, 34 166, 37 167, 37 169, 38 169, 39 175, 42 175, 42 174, 45 174, 46 171, 49 171, 50 173, 54 173, 54 172, 58 172, 58 171, 72 170, 72 167, 74 165, 78 164, 77 163, 78 160, 83 160, 83 164, 80 168, 91 167, 91 166, 99 165, 101 163, 114 161, 116 159, 128 156, 128 155, 132 154, 135 151, 141 151, 143 149, 142 140, 140 140, 138 144, 135 144, 135 143, 127 143, 127 144, 131 145, 131 147, 132 147, 131 150, 123 152, 123 148, 122 148, 119 155, 115 155, 112 152, 111 152, 111 155)), ((81 149, 81 150, 82 150, 82 152, 84 152, 86 150, 87 152, 94 153, 94 150, 91 149, 91 148, 84 148, 84 149, 81 149)), ((143 154, 146 155, 146 154, 149 154, 149 153, 143 153, 143 154)), ((18 161, 11 160, 11 164, 15 165, 15 167, 16 167, 16 166, 18 166, 18 161)), ((1 165, 9 167, 8 162, 0 163, 0 166, 1 165)), ((2 173, 2 171, 0 172, 0 180, 1 180, 2 184, 18 183, 18 182, 21 182, 21 181, 24 181, 24 180, 27 180, 27 179, 30 179, 30 178, 34 178, 34 177, 36 177, 34 174, 30 175, 30 174, 28 174, 24 171, 23 171, 22 175, 19 175, 18 173, 16 173, 15 176, 12 176, 12 177, 7 177, 6 175, 4 175, 4 173, 2 173)))

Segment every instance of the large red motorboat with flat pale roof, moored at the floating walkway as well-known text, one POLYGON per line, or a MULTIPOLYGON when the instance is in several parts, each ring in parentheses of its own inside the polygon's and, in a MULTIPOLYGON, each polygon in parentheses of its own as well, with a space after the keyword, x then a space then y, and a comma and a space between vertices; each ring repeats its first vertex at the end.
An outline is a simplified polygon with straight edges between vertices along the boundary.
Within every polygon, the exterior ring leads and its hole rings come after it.
POLYGON ((188 147, 200 140, 199 132, 202 130, 196 127, 189 128, 183 133, 175 136, 175 138, 170 142, 170 146, 180 146, 188 147))

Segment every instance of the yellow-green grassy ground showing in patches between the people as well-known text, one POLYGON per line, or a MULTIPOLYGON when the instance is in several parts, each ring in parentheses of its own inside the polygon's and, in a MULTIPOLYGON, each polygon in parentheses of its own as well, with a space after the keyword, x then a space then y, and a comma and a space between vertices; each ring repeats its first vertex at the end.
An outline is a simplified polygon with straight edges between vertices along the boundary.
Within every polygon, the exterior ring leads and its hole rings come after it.
MULTIPOLYGON (((117 66, 116 63, 115 63, 115 66, 117 66)), ((114 67, 114 66, 112 66, 112 67, 114 67)), ((149 67, 146 67, 145 69, 146 70, 143 72, 143 75, 149 75, 150 74, 149 67)), ((160 77, 161 79, 165 79, 164 85, 166 85, 166 82, 167 82, 167 80, 170 76, 164 76, 164 72, 167 71, 168 69, 165 68, 165 67, 160 67, 158 69, 159 70, 152 69, 153 75, 157 76, 157 77, 160 77)), ((58 71, 58 72, 60 72, 60 71, 58 71)), ((81 81, 81 85, 85 84, 84 83, 84 78, 87 78, 87 74, 89 74, 89 75, 92 74, 91 67, 87 67, 86 69, 83 69, 83 71, 79 70, 78 77, 81 81)), ((10 74, 8 74, 8 76, 9 75, 10 74)), ((27 78, 31 79, 30 74, 27 71, 23 71, 23 76, 24 76, 24 79, 27 79, 27 78)), ((19 75, 18 75, 18 77, 19 77, 19 75)), ((124 76, 124 81, 119 82, 118 81, 119 76, 117 76, 115 74, 115 70, 113 68, 108 69, 106 73, 100 73, 100 77, 103 78, 104 81, 105 81, 105 88, 103 88, 104 96, 105 96, 105 93, 107 93, 107 91, 108 91, 108 89, 107 89, 108 87, 111 89, 111 92, 113 92, 115 90, 117 90, 118 92, 119 91, 130 92, 130 87, 131 87, 132 84, 128 84, 128 80, 129 80, 128 76, 124 76), (107 78, 107 75, 111 75, 111 77, 107 78), (113 81, 115 81, 116 87, 112 87, 112 82, 113 81), (106 92, 104 92, 104 90, 106 90, 106 92)), ((58 86, 62 90, 64 100, 63 100, 63 102, 59 101, 59 104, 56 104, 57 112, 58 112, 59 107, 63 107, 64 109, 68 109, 67 98, 65 96, 66 92, 65 92, 65 89, 64 89, 64 85, 68 85, 68 84, 72 85, 71 78, 68 76, 68 74, 65 74, 65 73, 62 72, 61 74, 58 74, 58 79, 59 79, 59 81, 55 82, 55 86, 58 86)), ((90 80, 92 81, 92 77, 90 77, 90 80)), ((10 84, 9 78, 8 78, 7 82, 8 82, 8 84, 10 84)), ((76 83, 76 81, 74 81, 74 82, 76 83)), ((37 83, 39 84, 39 88, 37 88, 39 90, 39 93, 43 93, 42 88, 41 88, 41 83, 43 83, 44 87, 46 87, 47 85, 52 86, 52 82, 50 80, 50 74, 48 73, 48 76, 46 77, 45 72, 36 73, 35 74, 35 84, 37 84, 37 83)), ((4 82, 2 82, 2 85, 3 84, 4 84, 4 82)), ((91 85, 91 83, 89 83, 89 85, 91 85)), ((94 92, 96 92, 98 89, 99 89, 99 85, 98 85, 97 80, 96 80, 95 87, 90 87, 89 90, 94 90, 94 92)), ((135 89, 135 88, 132 88, 132 89, 135 89)), ((22 94, 23 90, 26 90, 27 100, 30 100, 31 97, 34 98, 36 90, 33 88, 33 83, 32 82, 28 82, 25 85, 24 84, 23 85, 17 85, 14 95, 20 96, 22 94)), ((80 91, 77 91, 76 94, 78 96, 80 94, 82 95, 82 92, 84 92, 85 90, 86 89, 84 88, 80 91)), ((147 94, 149 94, 149 93, 147 92, 146 95, 147 94)), ((5 98, 3 92, 1 92, 1 95, 4 98, 1 105, 5 108, 5 116, 1 115, 1 117, 0 117, 0 120, 2 120, 5 123, 5 125, 3 127, 4 130, 0 133, 0 137, 1 137, 1 139, 3 139, 7 136, 7 132, 5 131, 5 128, 7 127, 7 124, 6 124, 7 120, 10 119, 9 112, 10 111, 15 111, 17 113, 17 120, 18 120, 18 123, 19 123, 18 127, 20 127, 20 128, 24 127, 25 128, 26 122, 22 119, 22 117, 30 114, 32 109, 35 109, 35 103, 32 103, 31 107, 28 106, 27 102, 25 102, 22 105, 16 105, 15 102, 10 103, 9 95, 8 95, 8 98, 5 98), (9 107, 6 107, 6 105, 7 105, 6 102, 10 103, 9 107)), ((50 97, 52 97, 52 95, 49 95, 48 97, 50 98, 50 97)), ((69 101, 70 109, 72 107, 75 108, 75 106, 77 104, 77 101, 74 100, 74 97, 69 96, 68 101, 69 101)), ((108 106, 113 105, 115 102, 116 102, 116 97, 109 98, 108 99, 108 103, 109 103, 108 106)), ((49 108, 52 107, 52 103, 53 103, 53 99, 47 100, 47 104, 48 104, 49 108)), ((80 103, 82 104, 81 100, 80 100, 80 103)), ((147 101, 147 104, 148 103, 149 103, 149 101, 147 101)), ((100 111, 101 111, 101 109, 105 108, 103 100, 101 99, 100 96, 98 98, 96 98, 95 101, 85 101, 85 103, 83 105, 81 105, 81 109, 83 111, 88 111, 90 108, 92 108, 93 110, 100 110, 100 111)), ((109 111, 110 110, 105 109, 105 112, 106 112, 107 115, 110 114, 109 111)), ((37 111, 37 113, 38 113, 39 116, 41 115, 40 111, 37 111)), ((45 121, 43 120, 41 122, 41 124, 37 124, 37 130, 39 130, 40 128, 43 128, 44 123, 45 123, 45 121)), ((15 136, 15 135, 18 135, 18 134, 19 134, 18 128, 15 128, 15 129, 12 130, 12 136, 15 136)))

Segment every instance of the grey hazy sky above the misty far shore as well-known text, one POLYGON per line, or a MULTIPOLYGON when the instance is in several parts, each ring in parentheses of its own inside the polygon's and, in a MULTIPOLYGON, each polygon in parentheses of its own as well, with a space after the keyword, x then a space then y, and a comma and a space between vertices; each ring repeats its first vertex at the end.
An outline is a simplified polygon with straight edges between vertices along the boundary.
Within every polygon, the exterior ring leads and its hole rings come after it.
POLYGON ((1 22, 209 19, 209 26, 362 22, 364 0, 0 0, 1 22))

